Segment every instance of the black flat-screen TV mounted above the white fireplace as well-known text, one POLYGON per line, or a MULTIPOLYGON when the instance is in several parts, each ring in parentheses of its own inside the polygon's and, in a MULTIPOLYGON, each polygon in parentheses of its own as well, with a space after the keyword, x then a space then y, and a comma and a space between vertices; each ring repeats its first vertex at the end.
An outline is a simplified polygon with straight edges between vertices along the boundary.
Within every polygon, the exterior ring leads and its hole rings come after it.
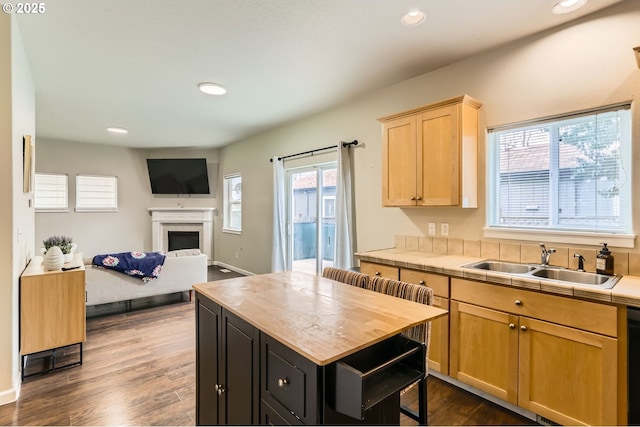
POLYGON ((153 194, 209 194, 206 159, 147 159, 153 194))

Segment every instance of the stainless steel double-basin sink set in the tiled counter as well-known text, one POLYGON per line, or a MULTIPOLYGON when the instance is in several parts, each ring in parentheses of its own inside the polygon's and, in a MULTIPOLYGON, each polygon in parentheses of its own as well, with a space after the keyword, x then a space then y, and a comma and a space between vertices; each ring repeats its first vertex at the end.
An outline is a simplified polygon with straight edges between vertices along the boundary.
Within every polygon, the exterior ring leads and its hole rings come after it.
POLYGON ((505 262, 485 260, 463 265, 463 268, 471 268, 484 271, 496 271, 515 277, 529 277, 540 280, 563 282, 572 285, 611 289, 618 282, 620 276, 608 276, 605 274, 590 273, 586 271, 574 271, 563 267, 548 267, 535 264, 521 264, 517 262, 505 262))

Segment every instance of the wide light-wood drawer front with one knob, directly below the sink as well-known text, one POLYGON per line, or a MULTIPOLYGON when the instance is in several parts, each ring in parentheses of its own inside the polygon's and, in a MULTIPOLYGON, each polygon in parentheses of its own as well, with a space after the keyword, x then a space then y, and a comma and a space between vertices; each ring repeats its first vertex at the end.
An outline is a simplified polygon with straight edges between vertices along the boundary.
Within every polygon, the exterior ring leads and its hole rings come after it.
POLYGON ((451 279, 451 299, 618 336, 618 312, 611 305, 457 278, 451 279))

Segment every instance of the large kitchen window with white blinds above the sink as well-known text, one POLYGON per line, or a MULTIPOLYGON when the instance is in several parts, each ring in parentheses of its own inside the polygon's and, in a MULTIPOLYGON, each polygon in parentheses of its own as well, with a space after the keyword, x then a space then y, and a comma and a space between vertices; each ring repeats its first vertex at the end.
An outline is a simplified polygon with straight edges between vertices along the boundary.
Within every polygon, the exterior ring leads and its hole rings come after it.
POLYGON ((488 225, 631 233, 630 105, 489 130, 488 225))

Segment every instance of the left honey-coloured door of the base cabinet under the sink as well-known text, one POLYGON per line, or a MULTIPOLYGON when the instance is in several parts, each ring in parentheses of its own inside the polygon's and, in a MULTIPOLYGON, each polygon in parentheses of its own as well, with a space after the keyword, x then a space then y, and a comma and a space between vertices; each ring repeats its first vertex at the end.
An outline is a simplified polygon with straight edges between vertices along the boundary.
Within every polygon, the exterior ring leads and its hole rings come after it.
POLYGON ((517 404, 518 316, 451 301, 449 375, 517 404))

